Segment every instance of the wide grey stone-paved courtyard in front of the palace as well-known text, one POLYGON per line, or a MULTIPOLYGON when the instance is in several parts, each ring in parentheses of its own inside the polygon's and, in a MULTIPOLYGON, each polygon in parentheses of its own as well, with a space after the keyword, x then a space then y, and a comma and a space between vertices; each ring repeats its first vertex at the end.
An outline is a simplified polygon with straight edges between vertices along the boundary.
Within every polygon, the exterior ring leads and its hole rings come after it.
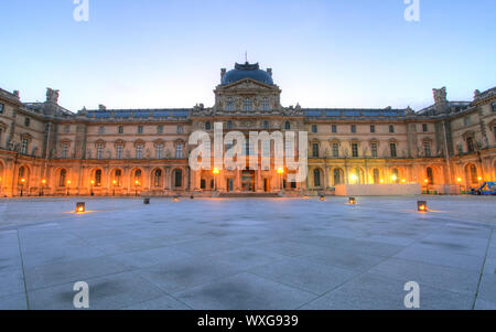
POLYGON ((496 309, 495 197, 0 201, 0 309, 496 309))

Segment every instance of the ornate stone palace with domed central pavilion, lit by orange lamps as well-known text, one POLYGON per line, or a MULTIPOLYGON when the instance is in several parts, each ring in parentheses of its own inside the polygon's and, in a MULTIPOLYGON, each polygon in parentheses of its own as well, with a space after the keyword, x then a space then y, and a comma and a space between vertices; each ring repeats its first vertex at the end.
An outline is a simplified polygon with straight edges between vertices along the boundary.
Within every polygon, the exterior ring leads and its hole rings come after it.
POLYGON ((332 193, 344 183, 421 183, 442 192, 496 180, 496 88, 472 101, 407 109, 283 107, 271 69, 236 64, 222 69, 215 105, 188 109, 106 109, 74 114, 47 89, 44 103, 21 103, 0 89, 0 195, 212 195, 332 193), (287 170, 192 171, 190 133, 309 132, 309 176, 287 170))

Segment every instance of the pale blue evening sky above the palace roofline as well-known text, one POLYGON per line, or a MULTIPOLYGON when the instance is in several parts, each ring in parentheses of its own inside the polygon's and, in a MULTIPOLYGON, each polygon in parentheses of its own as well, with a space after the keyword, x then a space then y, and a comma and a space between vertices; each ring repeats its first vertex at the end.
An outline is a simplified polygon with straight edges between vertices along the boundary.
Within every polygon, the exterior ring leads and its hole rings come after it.
POLYGON ((71 110, 212 106, 222 67, 273 68, 284 106, 407 107, 496 86, 496 1, 0 0, 0 87, 71 110))

